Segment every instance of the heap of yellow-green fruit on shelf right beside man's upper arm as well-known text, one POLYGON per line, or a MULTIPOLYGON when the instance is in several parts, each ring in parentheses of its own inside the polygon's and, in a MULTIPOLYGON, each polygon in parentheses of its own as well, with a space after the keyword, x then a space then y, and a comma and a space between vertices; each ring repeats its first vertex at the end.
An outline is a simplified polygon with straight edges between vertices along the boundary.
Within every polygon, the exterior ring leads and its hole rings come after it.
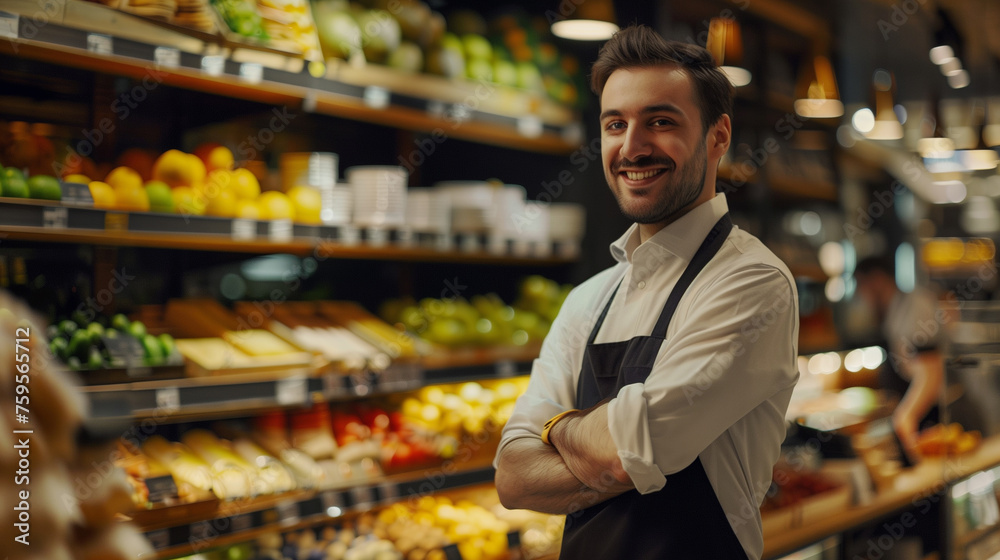
POLYGON ((421 338, 444 346, 524 346, 548 334, 571 286, 530 276, 507 305, 496 294, 462 298, 390 300, 380 315, 421 338))

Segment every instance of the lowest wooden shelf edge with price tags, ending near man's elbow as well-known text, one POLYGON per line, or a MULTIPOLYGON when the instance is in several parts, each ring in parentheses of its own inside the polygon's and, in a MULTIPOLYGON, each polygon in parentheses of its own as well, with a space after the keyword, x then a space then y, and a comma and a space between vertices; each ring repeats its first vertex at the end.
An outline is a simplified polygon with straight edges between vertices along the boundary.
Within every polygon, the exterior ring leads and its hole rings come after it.
POLYGON ((383 504, 409 500, 455 488, 491 483, 489 457, 462 468, 443 467, 382 477, 353 487, 295 491, 274 496, 218 502, 210 511, 138 512, 134 521, 156 550, 157 558, 190 554, 206 547, 252 540, 267 531, 290 531, 362 513, 383 504))

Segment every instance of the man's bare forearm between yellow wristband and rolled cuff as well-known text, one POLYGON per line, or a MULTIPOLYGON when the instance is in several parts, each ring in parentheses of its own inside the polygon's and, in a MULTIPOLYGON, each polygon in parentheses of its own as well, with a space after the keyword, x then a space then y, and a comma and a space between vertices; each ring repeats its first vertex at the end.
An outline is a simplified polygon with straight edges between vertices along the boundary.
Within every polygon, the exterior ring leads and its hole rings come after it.
POLYGON ((620 494, 635 487, 608 430, 606 403, 566 416, 553 426, 549 441, 569 471, 588 488, 620 494))

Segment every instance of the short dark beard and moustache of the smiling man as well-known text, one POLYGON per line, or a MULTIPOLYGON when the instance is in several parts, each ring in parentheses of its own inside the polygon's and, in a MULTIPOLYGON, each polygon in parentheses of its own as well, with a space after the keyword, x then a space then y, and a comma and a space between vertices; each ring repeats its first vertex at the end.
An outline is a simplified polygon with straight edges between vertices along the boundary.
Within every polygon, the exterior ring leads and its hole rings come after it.
MULTIPOLYGON (((622 168, 645 167, 649 165, 664 165, 669 172, 676 172, 677 164, 668 157, 647 157, 636 161, 620 160, 614 165, 612 177, 619 181, 618 171, 622 168)), ((706 146, 703 141, 698 150, 691 155, 688 165, 684 166, 681 174, 672 177, 660 193, 661 198, 652 201, 646 208, 630 209, 622 203, 622 195, 618 190, 613 190, 615 199, 618 201, 618 208, 629 220, 639 224, 656 224, 670 221, 671 216, 683 208, 687 208, 701 196, 705 185, 705 174, 708 171, 708 158, 706 156, 706 146)), ((625 188, 625 187, 622 187, 625 188)))

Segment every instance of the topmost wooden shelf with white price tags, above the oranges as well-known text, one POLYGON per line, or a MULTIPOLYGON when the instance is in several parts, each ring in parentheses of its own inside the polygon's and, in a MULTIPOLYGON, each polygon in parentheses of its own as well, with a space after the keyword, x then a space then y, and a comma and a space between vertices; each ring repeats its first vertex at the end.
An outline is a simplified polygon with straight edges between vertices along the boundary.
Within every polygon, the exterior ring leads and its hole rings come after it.
POLYGON ((30 19, 34 2, 5 5, 24 17, 13 25, 17 35, 0 42, 0 54, 534 152, 566 154, 583 141, 571 110, 498 84, 347 64, 315 77, 301 59, 223 48, 95 4, 56 4, 59 13, 43 26, 30 19), (95 30, 107 39, 91 42, 95 30), (158 54, 161 45, 171 45, 169 56, 158 54))

